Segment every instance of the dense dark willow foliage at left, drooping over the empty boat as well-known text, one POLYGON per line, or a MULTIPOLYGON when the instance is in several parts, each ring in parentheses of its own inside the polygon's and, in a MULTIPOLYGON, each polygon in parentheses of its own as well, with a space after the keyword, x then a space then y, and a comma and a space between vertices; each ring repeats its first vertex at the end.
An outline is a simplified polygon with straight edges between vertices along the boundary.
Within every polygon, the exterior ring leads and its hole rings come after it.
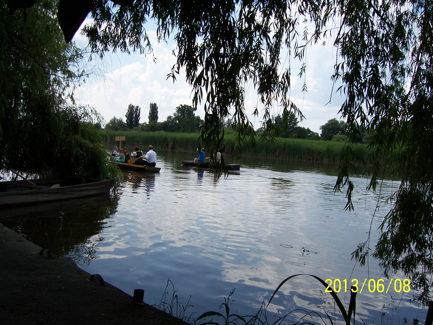
POLYGON ((107 179, 115 169, 91 125, 97 115, 68 104, 67 90, 86 74, 78 68, 82 52, 65 44, 56 12, 52 1, 12 14, 0 2, 0 169, 107 179))

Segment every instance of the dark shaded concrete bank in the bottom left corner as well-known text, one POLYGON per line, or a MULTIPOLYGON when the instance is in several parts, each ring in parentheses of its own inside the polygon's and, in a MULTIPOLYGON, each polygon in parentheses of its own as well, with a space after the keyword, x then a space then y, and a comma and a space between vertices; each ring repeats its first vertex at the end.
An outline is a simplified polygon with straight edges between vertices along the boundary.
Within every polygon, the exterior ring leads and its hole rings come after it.
POLYGON ((42 248, 0 224, 0 324, 187 324, 42 248))

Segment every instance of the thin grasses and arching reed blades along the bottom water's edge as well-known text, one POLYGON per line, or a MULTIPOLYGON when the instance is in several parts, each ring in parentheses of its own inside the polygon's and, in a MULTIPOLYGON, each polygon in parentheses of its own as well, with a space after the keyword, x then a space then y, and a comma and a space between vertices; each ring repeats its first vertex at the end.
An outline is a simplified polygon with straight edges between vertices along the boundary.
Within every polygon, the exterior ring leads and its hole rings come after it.
MULTIPOLYGON (((312 285, 314 285, 316 281, 312 281, 312 285)), ((320 286, 320 285, 319 285, 320 286)), ((236 288, 235 288, 236 289, 236 288)), ((365 321, 362 319, 362 317, 359 316, 359 314, 356 313, 356 296, 357 292, 352 292, 353 290, 358 290, 354 286, 350 289, 350 300, 348 309, 346 312, 345 306, 341 299, 338 296, 338 293, 336 293, 329 285, 329 283, 326 283, 323 279, 321 279, 318 276, 314 276, 311 274, 295 274, 292 276, 289 276, 288 278, 284 279, 275 289, 274 293, 272 294, 271 298, 269 299, 268 303, 266 304, 265 301, 262 302, 262 305, 260 306, 259 310, 255 312, 253 315, 239 315, 237 313, 232 313, 230 310, 230 306, 233 304, 233 295, 235 293, 235 289, 233 289, 227 297, 224 298, 224 302, 221 304, 218 311, 207 311, 199 315, 197 318, 194 318, 194 312, 192 309, 194 309, 194 306, 190 304, 190 299, 186 302, 186 304, 183 304, 182 302, 179 302, 178 300, 178 290, 174 289, 174 284, 171 280, 167 281, 167 286, 165 287, 164 294, 162 296, 161 302, 157 305, 154 305, 159 310, 162 310, 166 312, 167 314, 174 316, 178 319, 181 319, 182 321, 186 322, 187 324, 191 325, 229 325, 229 324, 236 324, 236 325, 281 325, 281 324, 346 324, 351 325, 352 316, 353 316, 353 324, 356 323, 356 317, 358 317, 359 321, 363 322, 365 321), (323 287, 327 293, 330 293, 330 296, 333 299, 333 304, 331 302, 326 302, 325 298, 325 291, 319 290, 320 295, 322 296, 320 299, 323 299, 322 306, 317 306, 317 311, 314 310, 304 310, 304 309, 295 309, 291 312, 280 312, 277 313, 271 313, 268 312, 268 306, 272 303, 272 300, 274 297, 276 298, 276 294, 281 289, 281 287, 288 282, 289 280, 293 279, 294 277, 312 277, 313 279, 317 280, 323 287), (330 306, 329 306, 330 305, 330 306), (328 308, 331 307, 331 308, 328 308), (189 315, 187 312, 191 312, 191 315, 189 315), (273 314, 273 317, 271 317, 271 314, 273 314)), ((392 301, 392 298, 391 298, 392 301)), ((383 308, 384 306, 382 306, 383 308)), ((394 302, 392 302, 393 309, 398 309, 398 306, 394 306, 394 302)), ((383 309, 382 309, 383 310, 383 309)), ((378 315, 380 315, 381 318, 381 324, 388 324, 387 319, 385 318, 386 312, 378 312, 378 315)), ((418 318, 412 319, 412 322, 408 322, 408 319, 406 317, 399 318, 397 321, 394 319, 394 315, 391 316, 391 322, 390 324, 401 324, 401 325, 418 325, 419 320, 418 318)), ((369 322, 367 322, 369 324, 369 322)), ((374 321, 372 324, 375 324, 374 321)))

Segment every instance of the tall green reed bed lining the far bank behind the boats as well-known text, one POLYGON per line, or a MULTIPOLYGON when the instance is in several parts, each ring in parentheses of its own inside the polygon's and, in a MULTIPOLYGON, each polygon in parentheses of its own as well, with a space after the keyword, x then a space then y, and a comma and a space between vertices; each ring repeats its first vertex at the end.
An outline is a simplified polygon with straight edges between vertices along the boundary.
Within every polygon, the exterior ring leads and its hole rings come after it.
MULTIPOLYGON (((158 132, 120 132, 101 130, 100 134, 107 147, 119 145, 116 136, 126 136, 122 146, 132 148, 141 143, 142 149, 152 144, 155 149, 176 149, 194 151, 197 148, 198 133, 158 132)), ((248 156, 275 157, 281 159, 338 162, 345 145, 344 142, 276 138, 274 142, 260 141, 256 138, 255 146, 240 143, 233 134, 224 138, 226 153, 248 156)), ((207 148, 205 148, 207 149, 207 148)), ((368 156, 366 144, 353 146, 353 151, 364 159, 368 156)))

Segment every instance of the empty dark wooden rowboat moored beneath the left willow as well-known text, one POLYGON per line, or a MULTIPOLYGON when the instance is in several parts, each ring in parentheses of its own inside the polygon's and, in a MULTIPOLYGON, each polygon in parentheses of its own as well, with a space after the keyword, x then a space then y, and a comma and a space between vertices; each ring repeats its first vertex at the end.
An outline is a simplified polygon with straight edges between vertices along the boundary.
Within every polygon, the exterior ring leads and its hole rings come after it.
POLYGON ((70 200, 103 195, 110 192, 113 179, 100 181, 86 179, 32 179, 35 185, 25 180, 0 182, 0 206, 32 205, 42 202, 70 200))

